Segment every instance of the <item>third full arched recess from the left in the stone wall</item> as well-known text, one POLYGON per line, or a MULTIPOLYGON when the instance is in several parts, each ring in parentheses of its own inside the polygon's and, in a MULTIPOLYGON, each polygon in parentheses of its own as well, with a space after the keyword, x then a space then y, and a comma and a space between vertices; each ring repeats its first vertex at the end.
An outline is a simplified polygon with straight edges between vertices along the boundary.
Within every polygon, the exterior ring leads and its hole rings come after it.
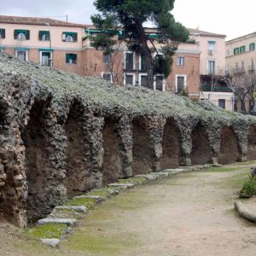
POLYGON ((103 184, 113 183, 115 180, 124 177, 117 125, 118 121, 116 119, 106 118, 102 130, 104 148, 103 184))

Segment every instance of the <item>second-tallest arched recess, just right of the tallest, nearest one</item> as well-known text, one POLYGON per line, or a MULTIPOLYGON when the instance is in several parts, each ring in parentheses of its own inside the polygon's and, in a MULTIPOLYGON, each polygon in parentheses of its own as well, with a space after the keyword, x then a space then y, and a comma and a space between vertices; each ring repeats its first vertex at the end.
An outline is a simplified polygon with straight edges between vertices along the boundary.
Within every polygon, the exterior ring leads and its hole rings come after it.
POLYGON ((83 133, 83 108, 79 103, 74 103, 67 114, 64 130, 67 136, 66 177, 64 185, 67 197, 81 195, 91 189, 90 171, 85 155, 89 150, 85 147, 83 133))

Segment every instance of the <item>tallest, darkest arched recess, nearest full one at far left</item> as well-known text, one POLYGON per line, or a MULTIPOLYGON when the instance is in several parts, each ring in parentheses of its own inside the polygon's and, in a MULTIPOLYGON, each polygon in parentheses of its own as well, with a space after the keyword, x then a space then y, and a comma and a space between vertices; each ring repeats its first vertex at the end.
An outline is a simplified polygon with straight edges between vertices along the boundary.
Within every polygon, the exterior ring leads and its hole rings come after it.
POLYGON ((42 218, 50 212, 48 185, 51 178, 51 166, 45 132, 44 112, 49 101, 36 100, 32 105, 28 124, 21 131, 25 150, 25 171, 28 187, 26 216, 28 220, 42 218))

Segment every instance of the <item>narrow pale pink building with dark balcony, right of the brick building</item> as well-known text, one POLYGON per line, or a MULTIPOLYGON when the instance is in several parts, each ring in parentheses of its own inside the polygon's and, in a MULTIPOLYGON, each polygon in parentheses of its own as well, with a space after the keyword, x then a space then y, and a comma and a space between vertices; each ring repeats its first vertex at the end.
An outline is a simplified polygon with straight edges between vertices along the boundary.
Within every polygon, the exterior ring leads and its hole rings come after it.
POLYGON ((232 111, 234 94, 225 84, 225 35, 189 28, 189 38, 195 41, 200 55, 200 98, 232 111))

